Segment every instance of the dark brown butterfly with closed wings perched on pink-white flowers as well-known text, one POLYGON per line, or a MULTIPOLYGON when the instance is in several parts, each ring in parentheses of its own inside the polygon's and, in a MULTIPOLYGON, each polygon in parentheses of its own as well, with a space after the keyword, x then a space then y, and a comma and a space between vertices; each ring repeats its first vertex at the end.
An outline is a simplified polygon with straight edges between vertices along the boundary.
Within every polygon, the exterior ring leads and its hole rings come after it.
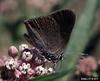
POLYGON ((62 59, 75 23, 71 10, 61 10, 48 16, 25 20, 28 34, 26 40, 39 49, 47 60, 57 62, 62 59))

